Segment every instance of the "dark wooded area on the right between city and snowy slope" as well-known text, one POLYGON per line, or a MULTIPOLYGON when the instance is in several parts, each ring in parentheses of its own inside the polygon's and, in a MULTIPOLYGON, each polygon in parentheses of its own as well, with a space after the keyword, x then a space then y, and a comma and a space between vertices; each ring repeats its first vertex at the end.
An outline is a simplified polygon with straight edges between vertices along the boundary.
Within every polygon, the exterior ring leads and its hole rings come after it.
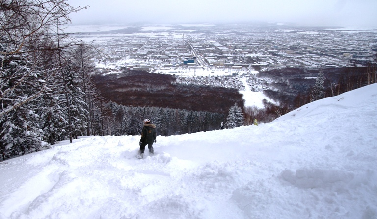
POLYGON ((367 67, 283 68, 262 71, 258 76, 271 78, 274 81, 270 84, 274 89, 264 91, 269 98, 297 108, 301 106, 301 104, 295 103, 297 95, 309 96, 310 89, 314 86, 320 71, 326 78, 325 97, 339 95, 367 84, 367 67))

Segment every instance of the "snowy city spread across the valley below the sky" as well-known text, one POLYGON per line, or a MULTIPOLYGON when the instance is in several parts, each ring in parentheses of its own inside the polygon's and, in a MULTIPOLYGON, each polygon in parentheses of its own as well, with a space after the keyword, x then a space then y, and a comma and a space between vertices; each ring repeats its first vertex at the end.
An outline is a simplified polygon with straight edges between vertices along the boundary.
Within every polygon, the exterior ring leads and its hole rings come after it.
POLYGON ((258 72, 362 67, 377 54, 377 29, 264 23, 70 26, 67 32, 105 54, 94 61, 97 73, 174 74, 179 83, 241 92, 272 89, 258 72))

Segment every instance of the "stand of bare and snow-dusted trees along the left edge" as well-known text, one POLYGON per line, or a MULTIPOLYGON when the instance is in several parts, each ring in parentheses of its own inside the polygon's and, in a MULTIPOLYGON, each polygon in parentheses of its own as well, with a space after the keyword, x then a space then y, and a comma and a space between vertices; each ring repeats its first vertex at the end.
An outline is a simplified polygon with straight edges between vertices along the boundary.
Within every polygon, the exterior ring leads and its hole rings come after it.
POLYGON ((80 11, 66 0, 0 0, 0 154, 102 134, 103 100, 91 82, 95 48, 64 32, 80 11))

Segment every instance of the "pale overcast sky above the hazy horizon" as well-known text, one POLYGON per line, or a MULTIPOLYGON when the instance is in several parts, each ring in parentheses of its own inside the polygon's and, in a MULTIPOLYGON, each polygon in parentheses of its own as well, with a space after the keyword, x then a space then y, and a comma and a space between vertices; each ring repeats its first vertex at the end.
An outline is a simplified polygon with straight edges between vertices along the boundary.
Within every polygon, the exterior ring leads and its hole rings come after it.
POLYGON ((73 24, 279 22, 377 27, 377 0, 68 0, 73 24))

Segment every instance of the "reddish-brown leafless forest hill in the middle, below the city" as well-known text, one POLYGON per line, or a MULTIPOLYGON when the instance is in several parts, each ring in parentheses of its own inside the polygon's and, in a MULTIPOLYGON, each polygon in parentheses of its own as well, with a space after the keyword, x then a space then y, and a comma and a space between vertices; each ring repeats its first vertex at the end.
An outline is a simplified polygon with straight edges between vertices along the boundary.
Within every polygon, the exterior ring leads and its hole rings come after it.
POLYGON ((113 102, 125 106, 154 106, 227 114, 237 102, 243 108, 237 89, 176 83, 175 76, 131 71, 97 75, 94 83, 113 102))

